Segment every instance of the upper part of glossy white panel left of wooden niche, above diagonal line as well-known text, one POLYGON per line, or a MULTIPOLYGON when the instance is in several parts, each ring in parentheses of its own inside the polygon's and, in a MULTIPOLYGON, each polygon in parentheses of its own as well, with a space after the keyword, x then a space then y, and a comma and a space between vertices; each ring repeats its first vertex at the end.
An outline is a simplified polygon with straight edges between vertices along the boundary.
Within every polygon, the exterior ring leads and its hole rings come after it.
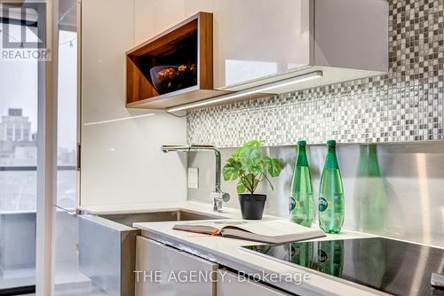
POLYGON ((134 46, 133 19, 133 1, 82 2, 83 123, 136 115, 124 104, 124 52, 134 46))

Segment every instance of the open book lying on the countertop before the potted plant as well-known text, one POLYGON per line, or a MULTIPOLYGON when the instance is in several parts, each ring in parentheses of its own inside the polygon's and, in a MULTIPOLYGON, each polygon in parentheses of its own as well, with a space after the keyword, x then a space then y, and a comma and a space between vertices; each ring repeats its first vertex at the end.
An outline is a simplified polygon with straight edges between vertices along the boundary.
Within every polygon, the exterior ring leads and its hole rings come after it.
POLYGON ((285 220, 202 221, 176 224, 172 229, 254 240, 270 244, 281 244, 325 236, 322 230, 311 229, 285 220))

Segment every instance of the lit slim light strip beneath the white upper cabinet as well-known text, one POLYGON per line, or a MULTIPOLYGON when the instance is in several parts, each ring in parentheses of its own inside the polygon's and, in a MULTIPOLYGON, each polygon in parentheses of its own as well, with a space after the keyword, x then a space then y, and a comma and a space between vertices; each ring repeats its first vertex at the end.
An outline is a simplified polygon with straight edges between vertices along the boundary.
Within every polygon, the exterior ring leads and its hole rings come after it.
POLYGON ((220 96, 220 97, 210 98, 207 100, 203 100, 201 102, 190 103, 190 104, 186 104, 186 105, 178 105, 176 107, 171 107, 171 108, 167 109, 167 112, 172 113, 172 112, 182 111, 182 110, 186 110, 186 109, 201 107, 203 105, 211 105, 211 104, 215 104, 215 103, 220 103, 220 102, 232 100, 232 99, 238 98, 238 97, 246 97, 246 96, 250 96, 253 94, 257 94, 262 91, 273 90, 273 89, 281 88, 284 86, 289 86, 289 85, 300 83, 300 82, 306 82, 306 81, 309 81, 309 80, 312 80, 315 78, 320 78, 322 76, 323 76, 322 71, 314 71, 314 72, 302 74, 302 75, 299 75, 296 77, 291 77, 291 78, 282 80, 280 82, 266 83, 263 85, 256 86, 254 88, 237 91, 232 94, 227 94, 227 95, 220 96))

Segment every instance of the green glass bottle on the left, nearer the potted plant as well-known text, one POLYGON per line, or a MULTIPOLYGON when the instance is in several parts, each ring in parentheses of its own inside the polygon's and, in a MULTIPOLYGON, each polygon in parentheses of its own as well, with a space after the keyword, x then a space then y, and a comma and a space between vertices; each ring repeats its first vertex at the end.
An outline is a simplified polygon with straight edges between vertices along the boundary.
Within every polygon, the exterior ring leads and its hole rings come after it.
POLYGON ((293 181, 291 183, 291 222, 312 227, 313 223, 313 184, 305 152, 305 141, 297 142, 298 153, 293 181))

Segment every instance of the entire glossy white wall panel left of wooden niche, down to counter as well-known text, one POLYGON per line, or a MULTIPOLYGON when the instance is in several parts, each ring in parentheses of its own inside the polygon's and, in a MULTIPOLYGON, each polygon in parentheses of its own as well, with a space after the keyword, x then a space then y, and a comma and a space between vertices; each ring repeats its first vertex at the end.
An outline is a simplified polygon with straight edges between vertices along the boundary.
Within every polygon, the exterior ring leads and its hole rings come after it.
POLYGON ((186 160, 160 146, 186 143, 186 119, 125 107, 134 0, 82 4, 81 205, 185 200, 186 160))

